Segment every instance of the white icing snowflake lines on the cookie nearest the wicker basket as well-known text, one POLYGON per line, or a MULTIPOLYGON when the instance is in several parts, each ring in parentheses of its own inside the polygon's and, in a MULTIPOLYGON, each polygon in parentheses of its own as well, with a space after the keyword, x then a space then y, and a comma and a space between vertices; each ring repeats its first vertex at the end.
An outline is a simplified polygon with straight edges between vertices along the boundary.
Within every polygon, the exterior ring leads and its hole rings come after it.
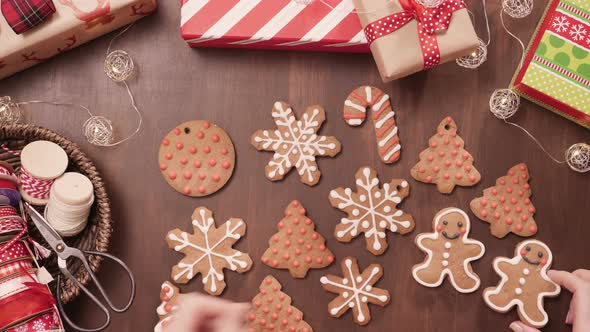
POLYGON ((245 224, 241 219, 238 219, 235 225, 232 225, 232 220, 228 220, 224 224, 225 234, 217 242, 211 244, 209 243, 209 231, 211 226, 215 228, 215 221, 211 217, 206 218, 207 214, 211 215, 211 211, 205 208, 200 208, 200 219, 192 221, 195 231, 198 230, 201 234, 203 234, 203 243, 190 242, 186 232, 180 233, 180 238, 174 233, 171 233, 168 238, 179 243, 174 247, 174 250, 176 251, 181 251, 188 247, 196 252, 201 253, 201 255, 195 257, 195 260, 192 262, 186 262, 185 258, 176 265, 179 268, 179 272, 173 276, 174 281, 178 281, 182 276, 186 276, 187 279, 192 279, 197 273, 203 273, 204 271, 195 270, 195 266, 202 260, 206 259, 209 270, 207 271, 207 274, 203 274, 202 281, 206 288, 215 293, 218 289, 217 282, 224 280, 224 267, 229 267, 232 271, 237 270, 238 267, 242 269, 248 267, 248 262, 243 260, 243 257, 247 255, 242 252, 235 251, 232 255, 227 256, 215 251, 215 249, 217 249, 229 239, 238 240, 241 236, 239 233, 237 233, 237 231, 245 224), (213 257, 223 259, 227 265, 222 266, 219 268, 219 270, 217 270, 213 264, 213 257))

